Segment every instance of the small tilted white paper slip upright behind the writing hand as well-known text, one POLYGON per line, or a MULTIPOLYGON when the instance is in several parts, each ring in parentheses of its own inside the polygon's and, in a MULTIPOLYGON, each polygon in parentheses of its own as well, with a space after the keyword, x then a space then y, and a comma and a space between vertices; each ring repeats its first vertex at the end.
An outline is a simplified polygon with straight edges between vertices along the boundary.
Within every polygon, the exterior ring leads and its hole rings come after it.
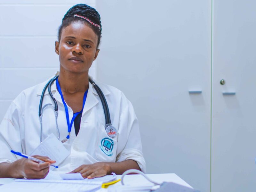
MULTIPOLYGON (((52 133, 30 154, 30 156, 48 156, 50 159, 56 161, 54 165, 59 165, 69 154, 70 152, 68 152, 61 141, 52 133)), ((54 167, 51 166, 51 169, 54 169, 54 167)))

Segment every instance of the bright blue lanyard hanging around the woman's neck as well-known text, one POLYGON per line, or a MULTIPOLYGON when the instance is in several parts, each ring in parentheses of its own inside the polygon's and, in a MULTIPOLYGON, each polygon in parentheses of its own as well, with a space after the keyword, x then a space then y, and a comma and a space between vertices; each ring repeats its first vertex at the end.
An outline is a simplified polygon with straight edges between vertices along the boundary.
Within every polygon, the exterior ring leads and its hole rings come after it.
POLYGON ((83 99, 83 108, 81 111, 77 112, 77 113, 74 113, 74 116, 72 117, 71 119, 71 122, 69 123, 69 115, 68 115, 68 106, 66 104, 66 102, 64 101, 64 98, 63 98, 63 94, 61 92, 61 89, 60 89, 60 84, 59 84, 59 81, 58 79, 56 80, 56 85, 57 85, 57 89, 60 93, 60 96, 61 96, 61 100, 63 102, 63 105, 64 105, 64 108, 65 108, 65 112, 66 112, 66 119, 67 119, 67 124, 68 124, 68 135, 67 135, 67 139, 69 139, 69 135, 70 135, 70 132, 71 132, 71 128, 72 128, 72 124, 76 118, 76 116, 80 113, 83 112, 83 109, 84 109, 84 104, 85 104, 85 101, 86 101, 86 97, 87 97, 87 92, 88 92, 88 89, 86 90, 86 92, 84 92, 84 99, 83 99))

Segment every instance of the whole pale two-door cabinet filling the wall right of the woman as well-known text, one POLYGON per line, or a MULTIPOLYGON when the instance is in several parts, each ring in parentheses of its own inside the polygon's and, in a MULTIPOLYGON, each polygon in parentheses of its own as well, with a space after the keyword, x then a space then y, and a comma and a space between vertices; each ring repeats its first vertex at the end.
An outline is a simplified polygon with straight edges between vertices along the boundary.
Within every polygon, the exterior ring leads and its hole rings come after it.
POLYGON ((202 192, 255 191, 255 6, 97 1, 98 79, 133 103, 148 173, 202 192))

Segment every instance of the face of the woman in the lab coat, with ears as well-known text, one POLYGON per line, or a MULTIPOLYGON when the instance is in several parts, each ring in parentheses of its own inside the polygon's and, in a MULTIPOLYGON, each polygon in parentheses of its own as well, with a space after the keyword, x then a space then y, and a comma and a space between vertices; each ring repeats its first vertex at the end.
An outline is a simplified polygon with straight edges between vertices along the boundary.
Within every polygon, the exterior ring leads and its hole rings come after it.
POLYGON ((98 36, 92 28, 76 21, 62 29, 60 42, 55 42, 60 70, 74 73, 87 72, 99 53, 98 36))

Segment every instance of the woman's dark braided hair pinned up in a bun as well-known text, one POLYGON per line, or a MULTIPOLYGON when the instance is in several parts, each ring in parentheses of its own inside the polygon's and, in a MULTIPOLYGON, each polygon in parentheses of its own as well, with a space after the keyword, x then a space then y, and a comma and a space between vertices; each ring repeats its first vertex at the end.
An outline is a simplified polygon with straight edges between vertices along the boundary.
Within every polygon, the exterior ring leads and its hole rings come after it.
POLYGON ((100 14, 94 8, 86 4, 74 5, 64 15, 62 19, 62 23, 58 30, 58 40, 60 41, 62 29, 75 21, 83 22, 84 24, 92 28, 94 33, 98 36, 98 42, 97 42, 97 48, 98 48, 100 44, 100 37, 101 37, 100 14), (84 18, 86 18, 87 20, 84 18))

